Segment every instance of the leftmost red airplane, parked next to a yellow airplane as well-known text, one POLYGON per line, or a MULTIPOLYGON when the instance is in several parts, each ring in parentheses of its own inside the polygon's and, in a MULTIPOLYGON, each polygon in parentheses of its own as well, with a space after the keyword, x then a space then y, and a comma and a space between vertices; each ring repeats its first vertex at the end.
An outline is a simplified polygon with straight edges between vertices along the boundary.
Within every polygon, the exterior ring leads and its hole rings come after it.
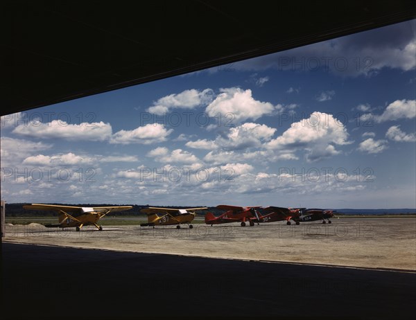
POLYGON ((219 217, 214 216, 212 213, 205 214, 205 223, 206 224, 222 224, 229 222, 239 222, 241 221, 241 226, 245 226, 245 222, 248 221, 250 226, 254 226, 254 221, 251 218, 257 218, 260 220, 259 215, 256 211, 256 208, 261 206, 227 206, 220 204, 216 206, 218 209, 225 210, 225 213, 219 217))

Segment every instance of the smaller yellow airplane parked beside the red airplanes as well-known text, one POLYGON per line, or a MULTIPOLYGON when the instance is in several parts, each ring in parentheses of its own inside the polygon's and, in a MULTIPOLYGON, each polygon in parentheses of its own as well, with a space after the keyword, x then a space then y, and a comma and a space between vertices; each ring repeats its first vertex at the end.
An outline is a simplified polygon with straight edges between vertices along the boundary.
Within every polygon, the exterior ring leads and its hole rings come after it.
POLYGON ((142 223, 140 226, 166 226, 171 224, 177 224, 176 228, 180 229, 181 224, 188 224, 189 228, 192 229, 193 226, 191 221, 196 216, 194 211, 204 210, 206 207, 202 208, 183 208, 183 209, 174 209, 174 208, 157 208, 155 206, 150 206, 145 209, 141 209, 141 212, 146 213, 148 216, 148 223, 142 223), (161 216, 157 215, 161 214, 161 216))

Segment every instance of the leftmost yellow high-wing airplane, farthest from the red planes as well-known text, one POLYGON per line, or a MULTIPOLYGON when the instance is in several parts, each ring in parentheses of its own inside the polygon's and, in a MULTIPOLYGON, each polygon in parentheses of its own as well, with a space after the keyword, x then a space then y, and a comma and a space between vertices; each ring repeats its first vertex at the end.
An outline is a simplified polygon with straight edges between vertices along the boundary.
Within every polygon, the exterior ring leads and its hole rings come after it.
POLYGON ((93 224, 99 231, 103 230, 97 222, 110 211, 124 211, 131 209, 132 206, 94 206, 93 208, 82 206, 56 206, 55 204, 27 204, 23 206, 27 210, 55 211, 58 213, 58 224, 45 224, 48 228, 76 227, 80 231, 83 226, 93 224))

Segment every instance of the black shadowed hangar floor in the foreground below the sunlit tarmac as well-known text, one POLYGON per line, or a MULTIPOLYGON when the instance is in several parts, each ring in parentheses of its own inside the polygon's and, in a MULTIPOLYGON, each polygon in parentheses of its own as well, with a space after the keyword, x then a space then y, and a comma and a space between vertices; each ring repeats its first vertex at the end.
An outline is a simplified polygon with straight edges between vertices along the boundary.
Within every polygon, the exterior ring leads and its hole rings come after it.
POLYGON ((2 319, 413 319, 416 274, 2 243, 2 319))

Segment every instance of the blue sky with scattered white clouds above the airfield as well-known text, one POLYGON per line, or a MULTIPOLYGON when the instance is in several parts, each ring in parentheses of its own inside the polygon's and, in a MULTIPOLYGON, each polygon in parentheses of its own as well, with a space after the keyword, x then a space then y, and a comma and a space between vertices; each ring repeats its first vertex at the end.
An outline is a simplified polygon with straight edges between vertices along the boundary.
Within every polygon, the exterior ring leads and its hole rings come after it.
POLYGON ((8 203, 416 207, 415 20, 1 118, 8 203))

